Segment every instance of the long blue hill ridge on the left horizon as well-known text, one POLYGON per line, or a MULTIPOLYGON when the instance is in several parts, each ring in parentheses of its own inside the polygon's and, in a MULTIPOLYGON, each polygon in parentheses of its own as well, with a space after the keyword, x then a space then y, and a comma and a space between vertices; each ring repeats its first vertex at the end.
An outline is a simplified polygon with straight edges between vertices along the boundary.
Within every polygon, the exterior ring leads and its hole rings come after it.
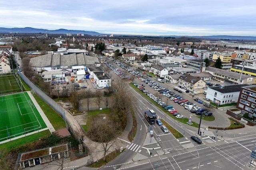
POLYGON ((54 33, 54 34, 66 34, 66 33, 83 33, 87 35, 103 35, 101 33, 95 31, 83 31, 83 30, 68 30, 68 29, 56 29, 56 30, 49 30, 49 29, 38 29, 32 27, 24 27, 24 28, 3 28, 0 27, 0 33, 54 33))

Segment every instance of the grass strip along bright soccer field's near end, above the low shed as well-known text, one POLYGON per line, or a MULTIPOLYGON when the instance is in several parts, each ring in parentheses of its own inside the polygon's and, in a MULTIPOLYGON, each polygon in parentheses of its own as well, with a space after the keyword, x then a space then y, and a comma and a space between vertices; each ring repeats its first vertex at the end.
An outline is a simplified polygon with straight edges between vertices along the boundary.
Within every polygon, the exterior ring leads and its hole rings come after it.
POLYGON ((35 133, 33 135, 28 135, 26 137, 22 137, 20 139, 14 140, 14 141, 10 141, 10 142, 1 144, 0 145, 0 150, 1 149, 6 149, 7 151, 10 151, 14 148, 20 147, 24 144, 34 142, 34 141, 40 139, 41 137, 45 137, 45 136, 48 136, 50 134, 51 134, 50 131, 47 130, 47 131, 42 131, 42 132, 39 132, 39 133, 35 133))

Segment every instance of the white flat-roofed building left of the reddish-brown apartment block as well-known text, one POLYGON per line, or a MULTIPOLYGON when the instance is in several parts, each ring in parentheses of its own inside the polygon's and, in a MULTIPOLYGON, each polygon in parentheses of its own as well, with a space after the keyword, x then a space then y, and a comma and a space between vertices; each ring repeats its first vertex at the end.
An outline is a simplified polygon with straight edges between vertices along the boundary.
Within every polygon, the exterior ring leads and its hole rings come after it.
POLYGON ((208 87, 206 98, 217 105, 236 103, 240 94, 241 87, 248 84, 236 84, 229 86, 208 87))

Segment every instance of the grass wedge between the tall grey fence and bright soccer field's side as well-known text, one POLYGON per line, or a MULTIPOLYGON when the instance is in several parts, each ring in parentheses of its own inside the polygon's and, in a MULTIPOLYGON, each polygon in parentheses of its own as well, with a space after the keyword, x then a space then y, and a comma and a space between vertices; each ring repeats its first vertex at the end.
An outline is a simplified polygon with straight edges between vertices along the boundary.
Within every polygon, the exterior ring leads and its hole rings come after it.
POLYGON ((62 129, 66 127, 65 121, 62 119, 62 117, 52 109, 44 100, 42 100, 39 96, 34 94, 34 98, 36 99, 36 102, 39 104, 41 109, 44 111, 44 114, 51 122, 52 126, 55 130, 62 129))

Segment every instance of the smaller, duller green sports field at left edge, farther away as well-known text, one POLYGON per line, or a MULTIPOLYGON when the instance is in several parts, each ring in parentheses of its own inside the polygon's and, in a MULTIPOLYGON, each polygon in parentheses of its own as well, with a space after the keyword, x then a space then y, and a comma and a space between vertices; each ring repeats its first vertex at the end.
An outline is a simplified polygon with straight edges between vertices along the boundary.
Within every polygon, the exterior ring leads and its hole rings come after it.
MULTIPOLYGON (((17 78, 17 77, 16 77, 17 78)), ((0 95, 12 92, 21 92, 20 84, 18 84, 14 75, 0 76, 0 95)))

